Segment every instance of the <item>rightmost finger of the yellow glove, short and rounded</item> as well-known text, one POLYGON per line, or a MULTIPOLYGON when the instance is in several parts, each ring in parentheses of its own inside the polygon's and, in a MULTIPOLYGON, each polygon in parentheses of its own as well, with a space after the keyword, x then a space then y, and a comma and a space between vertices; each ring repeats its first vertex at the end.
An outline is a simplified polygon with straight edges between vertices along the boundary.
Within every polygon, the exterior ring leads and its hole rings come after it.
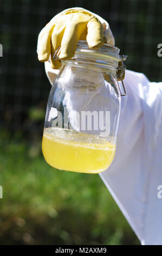
POLYGON ((87 24, 87 43, 89 48, 99 48, 104 44, 103 26, 100 21, 93 17, 87 24))

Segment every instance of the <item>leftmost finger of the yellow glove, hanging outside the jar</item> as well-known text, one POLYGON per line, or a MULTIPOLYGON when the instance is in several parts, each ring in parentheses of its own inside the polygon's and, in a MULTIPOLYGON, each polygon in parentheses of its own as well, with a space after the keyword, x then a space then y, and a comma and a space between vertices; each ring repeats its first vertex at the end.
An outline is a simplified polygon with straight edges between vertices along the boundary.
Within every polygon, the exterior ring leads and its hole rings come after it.
POLYGON ((37 53, 40 62, 46 62, 49 59, 51 52, 50 39, 54 26, 54 23, 50 21, 38 36, 37 53))

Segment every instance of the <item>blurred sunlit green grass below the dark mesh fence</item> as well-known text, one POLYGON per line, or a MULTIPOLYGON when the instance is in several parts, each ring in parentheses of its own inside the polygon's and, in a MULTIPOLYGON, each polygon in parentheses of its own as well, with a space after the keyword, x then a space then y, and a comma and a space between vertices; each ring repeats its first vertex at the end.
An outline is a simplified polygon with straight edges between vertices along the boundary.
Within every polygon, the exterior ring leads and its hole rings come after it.
POLYGON ((41 141, 1 135, 1 245, 139 244, 99 175, 56 170, 41 141))

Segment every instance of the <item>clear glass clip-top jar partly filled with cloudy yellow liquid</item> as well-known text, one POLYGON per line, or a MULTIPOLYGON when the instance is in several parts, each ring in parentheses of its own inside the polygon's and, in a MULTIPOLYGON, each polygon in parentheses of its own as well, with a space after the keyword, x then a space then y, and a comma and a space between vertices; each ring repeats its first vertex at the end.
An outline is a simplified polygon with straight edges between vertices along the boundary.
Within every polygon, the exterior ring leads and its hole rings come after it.
POLYGON ((50 90, 42 151, 50 166, 82 173, 100 173, 112 163, 118 133, 121 91, 119 48, 97 50, 79 41, 72 59, 50 90))

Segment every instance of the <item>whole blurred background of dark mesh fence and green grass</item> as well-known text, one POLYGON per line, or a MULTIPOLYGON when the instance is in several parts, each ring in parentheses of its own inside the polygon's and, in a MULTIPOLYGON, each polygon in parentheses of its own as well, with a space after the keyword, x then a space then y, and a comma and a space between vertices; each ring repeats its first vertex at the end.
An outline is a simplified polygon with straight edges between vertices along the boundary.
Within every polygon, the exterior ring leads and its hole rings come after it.
POLYGON ((83 7, 109 22, 127 68, 162 81, 158 0, 0 0, 0 244, 138 245, 98 175, 48 166, 41 138, 50 84, 37 36, 63 9, 83 7))

